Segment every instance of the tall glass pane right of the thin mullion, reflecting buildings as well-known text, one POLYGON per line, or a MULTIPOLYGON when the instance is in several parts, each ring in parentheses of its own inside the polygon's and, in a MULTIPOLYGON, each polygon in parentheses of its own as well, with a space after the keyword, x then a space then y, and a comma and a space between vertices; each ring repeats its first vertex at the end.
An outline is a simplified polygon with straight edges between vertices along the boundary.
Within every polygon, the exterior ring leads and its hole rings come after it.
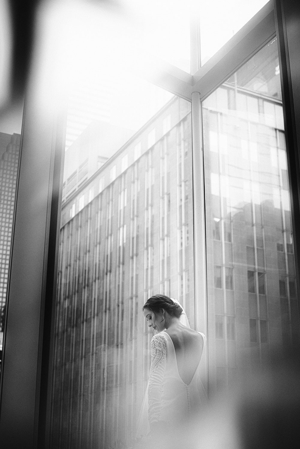
POLYGON ((291 207, 288 183, 282 177, 282 170, 287 171, 287 155, 279 76, 275 40, 203 102, 207 248, 216 243, 219 247, 218 253, 207 251, 207 266, 217 264, 214 276, 207 271, 212 392, 217 389, 218 373, 225 370, 227 379, 229 369, 238 370, 257 356, 265 357, 262 345, 284 346, 296 337, 291 207), (215 237, 216 210, 227 224, 221 242, 215 237), (230 239, 226 229, 231 229, 230 239), (229 245, 230 269, 226 266, 229 245), (223 352, 220 350, 223 321, 227 322, 223 338, 230 340, 230 351, 233 345, 236 350, 234 366, 229 365, 228 341, 223 352), (235 323, 234 330, 230 323, 235 323))

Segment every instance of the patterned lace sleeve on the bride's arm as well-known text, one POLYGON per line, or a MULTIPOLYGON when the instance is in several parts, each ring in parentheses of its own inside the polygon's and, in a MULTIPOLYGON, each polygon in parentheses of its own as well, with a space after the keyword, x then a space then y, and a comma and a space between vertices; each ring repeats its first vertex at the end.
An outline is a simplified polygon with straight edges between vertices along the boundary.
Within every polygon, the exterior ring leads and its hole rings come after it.
POLYGON ((151 368, 148 389, 149 424, 159 421, 163 396, 163 376, 167 362, 167 343, 162 335, 154 335, 151 340, 151 368))

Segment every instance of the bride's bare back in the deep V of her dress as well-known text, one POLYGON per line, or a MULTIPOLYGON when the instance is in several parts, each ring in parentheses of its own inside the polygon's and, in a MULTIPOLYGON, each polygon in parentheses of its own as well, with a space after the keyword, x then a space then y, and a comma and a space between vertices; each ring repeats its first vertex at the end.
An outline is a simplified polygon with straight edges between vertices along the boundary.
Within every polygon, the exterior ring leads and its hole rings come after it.
POLYGON ((188 385, 201 359, 203 337, 195 330, 181 324, 170 326, 166 332, 170 335, 175 348, 178 373, 182 381, 188 385))

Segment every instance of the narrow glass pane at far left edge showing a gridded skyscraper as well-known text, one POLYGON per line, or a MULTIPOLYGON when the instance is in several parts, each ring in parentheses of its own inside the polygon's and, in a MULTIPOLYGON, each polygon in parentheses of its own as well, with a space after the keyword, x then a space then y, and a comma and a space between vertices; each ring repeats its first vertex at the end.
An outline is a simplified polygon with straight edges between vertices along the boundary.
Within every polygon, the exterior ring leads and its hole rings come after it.
POLYGON ((0 369, 22 114, 20 104, 2 110, 0 119, 0 369))

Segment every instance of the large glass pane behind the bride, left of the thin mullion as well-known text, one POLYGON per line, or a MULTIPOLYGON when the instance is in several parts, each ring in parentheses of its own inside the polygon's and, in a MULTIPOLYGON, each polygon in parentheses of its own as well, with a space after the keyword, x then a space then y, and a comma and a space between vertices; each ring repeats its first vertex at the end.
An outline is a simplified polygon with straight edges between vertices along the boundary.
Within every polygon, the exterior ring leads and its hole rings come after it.
POLYGON ((63 449, 130 447, 151 295, 177 298, 194 323, 190 103, 91 64, 71 78, 66 119, 52 402, 63 449))

